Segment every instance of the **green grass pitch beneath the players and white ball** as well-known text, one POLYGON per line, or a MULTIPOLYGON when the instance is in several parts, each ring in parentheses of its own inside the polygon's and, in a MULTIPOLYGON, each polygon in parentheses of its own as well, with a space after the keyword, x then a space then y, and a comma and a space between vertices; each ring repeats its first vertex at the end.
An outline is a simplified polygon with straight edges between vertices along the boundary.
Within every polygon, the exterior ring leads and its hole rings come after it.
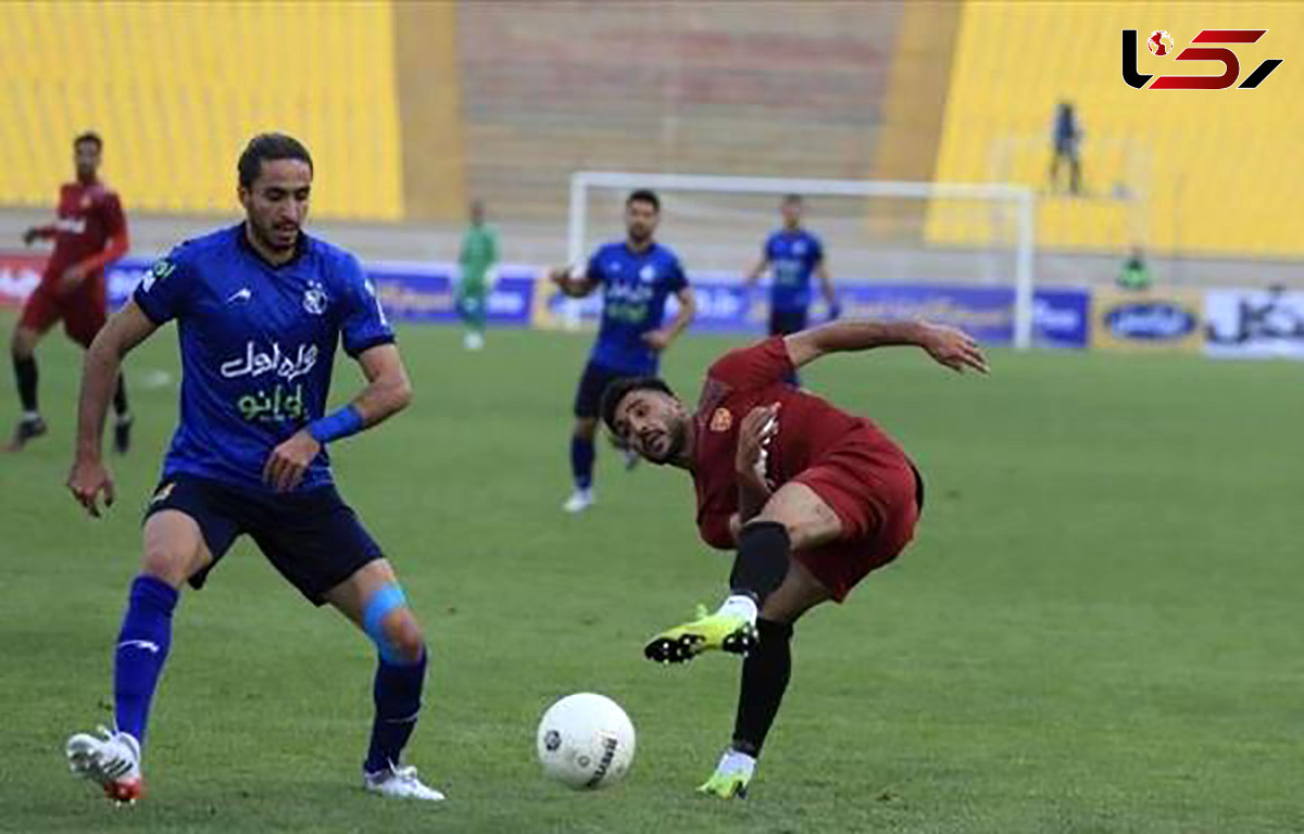
MULTIPOLYGON (((695 397, 734 344, 685 339, 670 382, 695 397)), ((587 336, 498 331, 468 354, 452 328, 408 327, 402 347, 413 407, 338 444, 336 474, 432 641, 408 758, 450 801, 360 790, 370 645, 246 541, 177 610, 146 801, 116 811, 69 778, 68 734, 110 718, 176 416, 175 382, 143 383, 176 378, 176 348, 170 328, 129 360, 137 447, 93 521, 64 489, 80 362, 56 334, 51 435, 0 457, 0 829, 1304 830, 1299 365, 996 351, 990 378, 960 378, 884 349, 810 369, 901 440, 928 506, 895 566, 798 626, 752 798, 722 803, 692 788, 728 740, 737 661, 640 653, 728 575, 696 539, 689 480, 626 474, 604 444, 599 503, 559 511, 587 336), (630 778, 600 794, 533 758, 545 706, 584 689, 639 731, 630 778)), ((342 366, 333 399, 359 382, 342 366)))

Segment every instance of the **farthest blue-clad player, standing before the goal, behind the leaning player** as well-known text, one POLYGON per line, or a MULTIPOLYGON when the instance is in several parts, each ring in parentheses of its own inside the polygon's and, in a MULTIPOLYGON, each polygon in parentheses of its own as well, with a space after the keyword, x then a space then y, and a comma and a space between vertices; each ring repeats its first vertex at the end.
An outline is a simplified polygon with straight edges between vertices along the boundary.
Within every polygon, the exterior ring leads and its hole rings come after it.
MULTIPOLYGON (((755 285, 767 268, 769 285, 769 335, 788 336, 806 330, 811 305, 811 275, 816 275, 829 318, 837 318, 837 296, 833 278, 824 263, 824 245, 820 238, 802 225, 801 194, 788 194, 778 208, 784 227, 765 238, 760 261, 743 278, 743 285, 755 285)), ((795 373, 789 382, 797 384, 795 373)))

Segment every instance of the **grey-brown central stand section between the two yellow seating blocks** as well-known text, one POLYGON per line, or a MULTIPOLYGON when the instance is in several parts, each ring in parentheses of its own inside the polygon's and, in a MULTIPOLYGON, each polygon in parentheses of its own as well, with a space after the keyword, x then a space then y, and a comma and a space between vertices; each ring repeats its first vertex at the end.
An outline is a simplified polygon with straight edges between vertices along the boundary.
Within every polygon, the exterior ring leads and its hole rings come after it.
POLYGON ((468 181, 559 218, 580 168, 868 177, 901 7, 459 7, 468 181))

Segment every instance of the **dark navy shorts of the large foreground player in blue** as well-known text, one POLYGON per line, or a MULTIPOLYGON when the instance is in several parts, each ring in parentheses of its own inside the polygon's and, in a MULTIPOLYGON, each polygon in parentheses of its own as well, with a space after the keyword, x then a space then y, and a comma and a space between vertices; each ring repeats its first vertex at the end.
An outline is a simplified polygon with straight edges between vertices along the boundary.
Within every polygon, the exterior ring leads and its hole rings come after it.
POLYGON ((194 519, 213 554, 213 563, 190 577, 196 589, 243 533, 313 605, 326 602, 327 590, 383 555, 334 486, 267 495, 176 474, 159 482, 145 517, 162 510, 194 519))

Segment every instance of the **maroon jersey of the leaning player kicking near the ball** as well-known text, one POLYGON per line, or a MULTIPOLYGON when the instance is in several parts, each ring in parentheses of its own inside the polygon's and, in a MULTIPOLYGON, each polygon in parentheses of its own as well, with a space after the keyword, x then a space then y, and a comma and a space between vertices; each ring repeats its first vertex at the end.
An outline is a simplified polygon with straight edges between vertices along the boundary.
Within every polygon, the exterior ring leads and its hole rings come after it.
POLYGON ((810 469, 852 434, 858 437, 867 465, 909 472, 905 452, 871 421, 785 384, 793 370, 782 336, 775 336, 725 354, 707 371, 694 417, 692 482, 698 530, 712 547, 734 547, 729 517, 738 512, 738 426, 758 405, 780 403, 778 433, 769 442, 765 461, 772 489, 810 469))

